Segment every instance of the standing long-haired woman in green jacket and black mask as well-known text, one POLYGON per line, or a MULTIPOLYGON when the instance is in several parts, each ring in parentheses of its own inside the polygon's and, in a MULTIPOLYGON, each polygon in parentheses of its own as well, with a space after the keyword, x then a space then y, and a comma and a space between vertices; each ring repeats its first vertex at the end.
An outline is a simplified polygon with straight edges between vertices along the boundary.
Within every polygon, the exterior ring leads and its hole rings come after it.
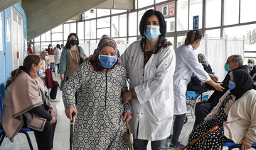
POLYGON ((60 56, 60 91, 63 89, 65 81, 72 76, 75 69, 82 63, 81 59, 87 58, 84 50, 79 45, 78 35, 70 33, 67 43, 60 56))

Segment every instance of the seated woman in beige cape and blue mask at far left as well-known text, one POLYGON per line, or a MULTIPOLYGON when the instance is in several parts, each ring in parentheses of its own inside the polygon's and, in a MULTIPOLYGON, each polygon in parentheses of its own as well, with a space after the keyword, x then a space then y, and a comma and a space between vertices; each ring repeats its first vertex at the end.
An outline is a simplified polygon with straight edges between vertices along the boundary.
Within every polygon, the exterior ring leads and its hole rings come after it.
POLYGON ((48 100, 38 55, 28 55, 23 66, 11 72, 6 82, 6 97, 1 123, 11 142, 21 127, 33 129, 38 150, 53 149, 56 120, 48 100))

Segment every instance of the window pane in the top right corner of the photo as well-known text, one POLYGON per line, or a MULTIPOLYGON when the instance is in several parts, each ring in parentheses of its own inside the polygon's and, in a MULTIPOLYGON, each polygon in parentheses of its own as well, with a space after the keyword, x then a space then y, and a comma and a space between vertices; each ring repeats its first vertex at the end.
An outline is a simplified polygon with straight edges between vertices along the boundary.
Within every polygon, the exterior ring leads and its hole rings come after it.
POLYGON ((255 0, 242 0, 240 22, 256 21, 256 1, 255 0))

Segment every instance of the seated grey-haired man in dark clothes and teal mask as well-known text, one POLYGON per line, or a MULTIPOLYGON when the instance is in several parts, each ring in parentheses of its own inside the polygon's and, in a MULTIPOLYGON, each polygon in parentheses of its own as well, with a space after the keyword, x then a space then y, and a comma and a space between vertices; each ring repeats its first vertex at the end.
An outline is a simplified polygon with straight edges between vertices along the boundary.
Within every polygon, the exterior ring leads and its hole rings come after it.
POLYGON ((228 71, 228 74, 225 76, 225 79, 223 80, 223 86, 225 89, 221 91, 214 91, 213 94, 210 96, 210 98, 205 102, 198 102, 196 103, 196 120, 193 127, 196 127, 196 125, 199 125, 201 122, 203 122, 204 118, 208 113, 210 113, 211 110, 217 105, 218 100, 221 98, 221 96, 224 95, 226 91, 228 91, 228 83, 230 81, 229 72, 233 69, 246 69, 247 66, 243 65, 243 60, 240 55, 231 55, 228 57, 227 62, 225 64, 225 71, 228 71))

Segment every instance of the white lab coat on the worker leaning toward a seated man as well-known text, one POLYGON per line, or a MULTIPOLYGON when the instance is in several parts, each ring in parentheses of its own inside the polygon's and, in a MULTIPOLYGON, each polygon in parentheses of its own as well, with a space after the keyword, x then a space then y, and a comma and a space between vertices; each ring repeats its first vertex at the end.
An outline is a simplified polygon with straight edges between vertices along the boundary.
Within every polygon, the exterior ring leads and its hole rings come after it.
POLYGON ((176 69, 174 73, 174 115, 186 113, 186 89, 192 73, 203 81, 210 81, 210 76, 198 62, 198 54, 192 45, 181 45, 175 51, 176 69))

